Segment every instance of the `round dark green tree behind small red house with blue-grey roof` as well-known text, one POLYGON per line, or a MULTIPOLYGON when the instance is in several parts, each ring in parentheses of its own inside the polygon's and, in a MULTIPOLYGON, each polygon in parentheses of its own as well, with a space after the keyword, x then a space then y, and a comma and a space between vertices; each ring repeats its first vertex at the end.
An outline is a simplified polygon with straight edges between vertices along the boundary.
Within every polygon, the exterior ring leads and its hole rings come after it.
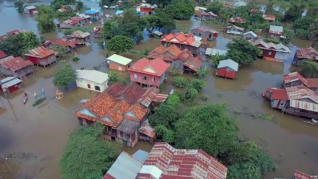
POLYGON ((244 39, 235 39, 228 43, 229 48, 227 58, 237 62, 239 66, 253 64, 257 56, 261 55, 261 50, 244 39))

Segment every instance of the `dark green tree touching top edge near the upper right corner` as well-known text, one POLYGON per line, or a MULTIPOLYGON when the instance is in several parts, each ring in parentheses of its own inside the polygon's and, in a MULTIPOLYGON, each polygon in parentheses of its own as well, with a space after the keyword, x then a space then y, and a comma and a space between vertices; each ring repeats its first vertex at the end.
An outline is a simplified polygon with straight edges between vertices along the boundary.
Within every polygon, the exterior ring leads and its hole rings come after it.
POLYGON ((306 7, 303 0, 292 0, 290 6, 285 12, 285 20, 294 21, 301 17, 306 7))

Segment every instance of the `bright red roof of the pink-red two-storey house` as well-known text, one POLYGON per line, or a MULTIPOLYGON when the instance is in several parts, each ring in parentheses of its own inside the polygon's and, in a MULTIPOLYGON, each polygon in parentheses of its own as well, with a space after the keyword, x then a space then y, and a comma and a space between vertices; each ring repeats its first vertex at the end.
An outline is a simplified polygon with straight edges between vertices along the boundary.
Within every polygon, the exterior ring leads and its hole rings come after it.
POLYGON ((148 61, 146 58, 138 60, 134 65, 128 68, 129 71, 139 72, 149 75, 161 76, 169 68, 169 64, 165 63, 161 58, 148 61), (146 68, 151 68, 156 73, 144 71, 146 68))

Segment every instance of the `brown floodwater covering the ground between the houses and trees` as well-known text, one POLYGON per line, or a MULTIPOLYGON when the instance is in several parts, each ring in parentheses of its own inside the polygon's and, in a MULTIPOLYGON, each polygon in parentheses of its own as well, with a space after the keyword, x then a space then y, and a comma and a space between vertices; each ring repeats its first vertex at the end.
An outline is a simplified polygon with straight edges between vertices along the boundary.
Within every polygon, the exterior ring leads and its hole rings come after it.
MULTIPOLYGON (((0 4, 1 28, 0 35, 14 29, 26 29, 39 33, 36 28, 34 16, 19 14, 11 6, 13 0, 3 1, 0 4)), ((33 2, 30 4, 48 4, 49 1, 33 2)), ((98 9, 98 3, 94 0, 85 1, 93 9, 98 9)), ((105 12, 110 13, 110 12, 105 12)), ((216 42, 210 42, 210 48, 226 50, 226 44, 233 36, 225 35, 220 25, 205 24, 191 19, 178 21, 177 30, 188 30, 201 26, 212 28, 220 32, 216 42)), ((40 34, 53 40, 63 36, 62 32, 40 34)), ((96 39, 94 39, 96 41, 96 39)), ((160 45, 159 39, 148 39, 145 43, 134 47, 143 50, 144 47, 153 50, 160 45)), ((206 88, 200 95, 208 95, 209 102, 227 102, 230 110, 243 112, 238 117, 240 135, 246 136, 258 142, 278 163, 277 171, 266 174, 263 179, 291 178, 293 170, 298 170, 309 175, 318 174, 318 127, 298 120, 295 116, 282 114, 278 110, 271 110, 269 101, 263 100, 261 92, 266 88, 280 87, 283 74, 295 71, 290 67, 296 49, 308 47, 308 41, 295 40, 289 46, 291 54, 284 62, 275 63, 259 59, 254 66, 245 66, 239 69, 237 80, 215 78, 215 70, 206 78, 206 88), (222 96, 222 97, 221 97, 222 96), (266 111, 275 114, 275 121, 253 119, 250 112, 266 111)), ((96 43, 92 46, 82 47, 76 51, 79 54, 78 62, 71 62, 75 69, 84 67, 92 70, 108 72, 105 60, 105 51, 96 43)), ((136 62, 139 55, 123 54, 136 62)), ((87 89, 74 89, 64 91, 62 100, 53 99, 56 88, 52 85, 52 77, 58 66, 65 62, 54 64, 52 68, 34 66, 35 73, 27 76, 22 82, 23 88, 10 93, 4 98, 1 93, 0 101, 0 152, 4 158, 8 158, 7 164, 0 163, 0 176, 4 179, 61 179, 59 159, 63 146, 66 144, 68 134, 79 126, 78 120, 73 116, 81 99, 90 99, 97 92, 87 89), (29 97, 23 106, 22 98, 24 90, 29 96, 46 90, 47 101, 33 107, 35 99, 29 97), (10 156, 14 153, 15 157, 10 156), (8 167, 9 166, 9 167, 8 167), (10 170, 14 174, 10 174, 10 170)), ((117 72, 122 78, 127 78, 128 72, 117 72)), ((192 76, 183 75, 187 79, 192 76)), ((163 86, 163 93, 173 89, 171 76, 163 86)), ((124 148, 130 154, 138 149, 149 152, 152 145, 140 141, 135 148, 124 148)), ((1 157, 1 156, 0 156, 1 157)))

